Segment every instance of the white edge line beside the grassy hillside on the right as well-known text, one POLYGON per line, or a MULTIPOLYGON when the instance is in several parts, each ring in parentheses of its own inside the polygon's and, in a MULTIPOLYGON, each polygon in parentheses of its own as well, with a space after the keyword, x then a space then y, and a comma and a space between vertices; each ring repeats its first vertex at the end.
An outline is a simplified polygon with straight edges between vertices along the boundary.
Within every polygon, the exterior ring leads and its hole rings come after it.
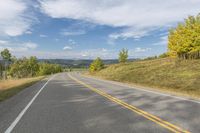
MULTIPOLYGON (((86 76, 82 76, 82 77, 86 77, 86 76)), ((138 91, 150 92, 150 93, 154 93, 154 94, 158 94, 158 95, 163 95, 163 96, 167 96, 167 97, 173 97, 173 98, 176 98, 176 99, 179 99, 179 100, 190 101, 190 102, 193 102, 193 103, 200 104, 200 101, 197 101, 197 100, 192 100, 192 99, 187 99, 187 98, 183 98, 183 97, 173 96, 173 95, 170 95, 170 94, 164 94, 164 93, 160 93, 160 92, 156 92, 156 91, 150 91, 150 90, 142 89, 140 87, 136 88, 136 87, 125 85, 123 83, 119 83, 119 82, 116 82, 116 81, 108 81, 108 80, 98 79, 98 78, 95 78, 95 77, 87 77, 87 78, 103 81, 103 82, 106 82, 106 83, 111 83, 111 84, 114 84, 114 85, 119 85, 119 86, 122 86, 122 87, 132 88, 132 89, 135 89, 135 90, 138 90, 138 91)))

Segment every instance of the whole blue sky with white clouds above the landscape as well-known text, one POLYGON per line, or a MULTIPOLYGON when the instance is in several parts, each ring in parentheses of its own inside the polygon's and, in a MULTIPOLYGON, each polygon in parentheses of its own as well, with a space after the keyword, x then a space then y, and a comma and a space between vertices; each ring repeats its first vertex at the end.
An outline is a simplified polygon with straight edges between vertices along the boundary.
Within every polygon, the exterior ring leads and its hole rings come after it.
POLYGON ((2 0, 0 50, 17 57, 130 58, 167 50, 168 30, 200 13, 200 0, 2 0))

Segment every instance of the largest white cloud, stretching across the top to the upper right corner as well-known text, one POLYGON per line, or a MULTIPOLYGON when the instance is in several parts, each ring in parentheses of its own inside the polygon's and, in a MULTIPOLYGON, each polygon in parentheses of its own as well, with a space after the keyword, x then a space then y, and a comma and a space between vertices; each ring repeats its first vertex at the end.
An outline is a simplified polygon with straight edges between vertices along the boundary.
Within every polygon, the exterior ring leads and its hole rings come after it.
POLYGON ((200 11, 199 0, 40 0, 40 4, 42 12, 53 18, 123 27, 110 35, 113 40, 138 39, 200 11))

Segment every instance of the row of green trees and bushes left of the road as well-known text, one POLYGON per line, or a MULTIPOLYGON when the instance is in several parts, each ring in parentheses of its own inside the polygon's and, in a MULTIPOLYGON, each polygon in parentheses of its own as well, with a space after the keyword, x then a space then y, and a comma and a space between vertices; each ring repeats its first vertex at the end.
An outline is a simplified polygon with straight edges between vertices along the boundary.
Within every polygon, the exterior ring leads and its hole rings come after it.
POLYGON ((12 56, 8 49, 1 51, 0 77, 6 78, 27 78, 62 72, 58 64, 38 62, 35 56, 17 59, 12 56))

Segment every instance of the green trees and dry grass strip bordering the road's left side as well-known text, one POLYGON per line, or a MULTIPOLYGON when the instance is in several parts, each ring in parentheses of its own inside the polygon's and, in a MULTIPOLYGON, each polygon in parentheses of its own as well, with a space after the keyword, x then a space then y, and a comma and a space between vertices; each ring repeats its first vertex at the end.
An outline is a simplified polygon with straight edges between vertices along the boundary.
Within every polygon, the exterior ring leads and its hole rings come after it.
POLYGON ((46 75, 62 72, 58 64, 39 62, 35 56, 17 59, 8 49, 1 51, 0 101, 43 79, 46 75))

